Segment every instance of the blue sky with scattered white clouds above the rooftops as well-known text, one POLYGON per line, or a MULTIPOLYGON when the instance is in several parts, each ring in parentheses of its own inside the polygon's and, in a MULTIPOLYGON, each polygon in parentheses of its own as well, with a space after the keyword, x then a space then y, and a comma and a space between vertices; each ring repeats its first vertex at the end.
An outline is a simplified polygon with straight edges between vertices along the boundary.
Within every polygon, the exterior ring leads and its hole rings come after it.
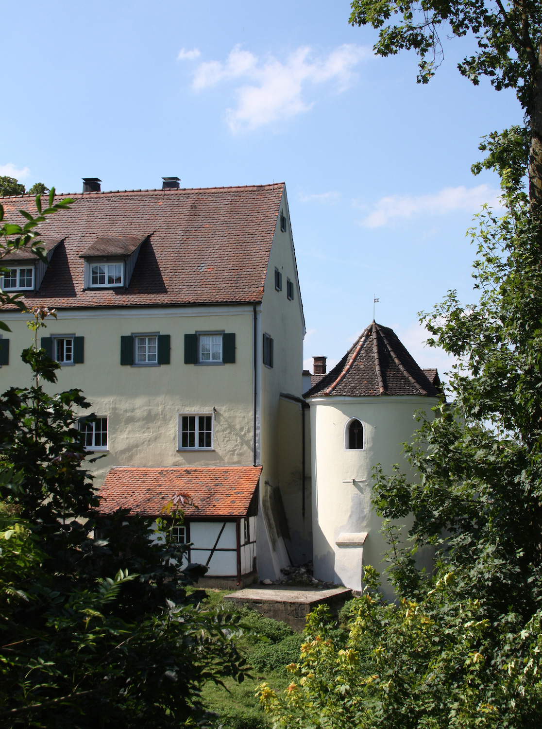
POLYGON ((347 1, 0 3, 0 174, 79 192, 286 182, 307 337, 332 364, 372 320, 422 367, 417 312, 470 301, 473 214, 498 181, 471 174, 480 137, 521 122, 514 93, 417 58, 376 58, 347 1), (9 104, 6 104, 9 100, 9 104))

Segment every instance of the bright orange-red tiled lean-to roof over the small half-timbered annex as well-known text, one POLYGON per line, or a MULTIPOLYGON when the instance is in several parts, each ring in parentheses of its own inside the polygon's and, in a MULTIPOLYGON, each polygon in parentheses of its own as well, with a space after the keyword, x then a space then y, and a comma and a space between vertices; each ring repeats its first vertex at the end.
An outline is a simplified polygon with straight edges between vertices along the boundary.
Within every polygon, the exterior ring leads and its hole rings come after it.
POLYGON ((173 494, 188 494, 199 509, 183 507, 187 516, 245 516, 262 466, 114 467, 99 491, 100 512, 119 508, 158 516, 173 494))

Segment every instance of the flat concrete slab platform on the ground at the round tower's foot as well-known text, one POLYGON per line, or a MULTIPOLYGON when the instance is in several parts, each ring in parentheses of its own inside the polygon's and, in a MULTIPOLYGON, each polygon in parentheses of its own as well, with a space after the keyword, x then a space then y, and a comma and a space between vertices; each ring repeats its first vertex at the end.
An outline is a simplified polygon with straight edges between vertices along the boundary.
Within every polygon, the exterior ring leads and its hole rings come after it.
POLYGON ((317 605, 329 605, 331 612, 337 613, 351 597, 352 590, 345 588, 299 590, 299 588, 269 587, 238 590, 231 595, 225 595, 224 601, 246 605, 265 617, 283 620, 294 630, 301 631, 305 628, 305 617, 317 605))

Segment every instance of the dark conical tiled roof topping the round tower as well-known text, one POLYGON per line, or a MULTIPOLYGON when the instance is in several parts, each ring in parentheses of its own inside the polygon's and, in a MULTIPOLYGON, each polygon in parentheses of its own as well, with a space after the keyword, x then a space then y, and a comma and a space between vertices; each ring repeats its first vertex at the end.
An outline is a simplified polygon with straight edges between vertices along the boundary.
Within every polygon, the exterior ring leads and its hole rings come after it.
POLYGON ((375 321, 329 373, 305 392, 304 397, 343 395, 425 395, 439 392, 420 370, 393 330, 375 321))

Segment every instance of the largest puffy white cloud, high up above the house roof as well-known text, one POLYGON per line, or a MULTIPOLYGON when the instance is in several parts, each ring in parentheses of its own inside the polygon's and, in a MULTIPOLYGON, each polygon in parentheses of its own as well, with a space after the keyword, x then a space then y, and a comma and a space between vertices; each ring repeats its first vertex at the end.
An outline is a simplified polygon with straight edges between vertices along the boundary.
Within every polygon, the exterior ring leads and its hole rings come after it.
POLYGON ((345 90, 353 79, 354 66, 370 55, 365 47, 343 44, 329 55, 315 58, 310 47, 303 46, 283 63, 273 56, 260 61, 236 45, 224 63, 200 63, 192 86, 203 90, 237 79, 252 82, 235 89, 237 106, 226 112, 232 131, 251 130, 311 109, 314 102, 302 98, 309 84, 334 81, 338 91, 345 90))

